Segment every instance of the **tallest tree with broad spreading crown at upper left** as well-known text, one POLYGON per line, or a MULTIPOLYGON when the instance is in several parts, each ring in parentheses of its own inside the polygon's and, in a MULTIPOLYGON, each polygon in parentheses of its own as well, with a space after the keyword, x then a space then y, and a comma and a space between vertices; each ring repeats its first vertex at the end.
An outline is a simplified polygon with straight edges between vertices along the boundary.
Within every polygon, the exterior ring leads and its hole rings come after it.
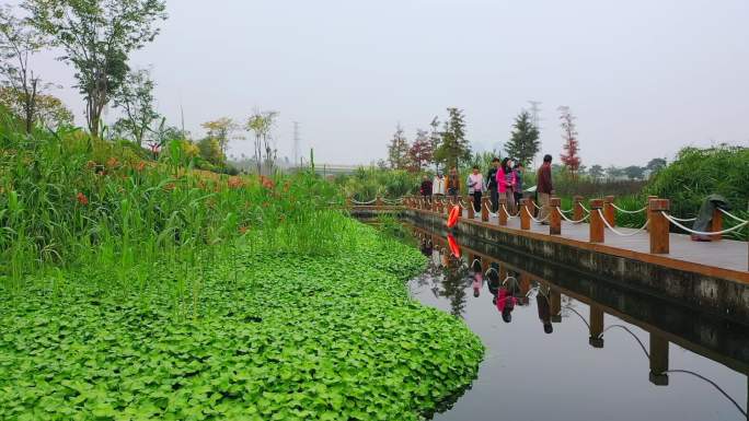
POLYGON ((101 116, 124 82, 130 52, 159 34, 163 0, 26 0, 32 24, 65 50, 85 97, 89 130, 100 136, 101 116))

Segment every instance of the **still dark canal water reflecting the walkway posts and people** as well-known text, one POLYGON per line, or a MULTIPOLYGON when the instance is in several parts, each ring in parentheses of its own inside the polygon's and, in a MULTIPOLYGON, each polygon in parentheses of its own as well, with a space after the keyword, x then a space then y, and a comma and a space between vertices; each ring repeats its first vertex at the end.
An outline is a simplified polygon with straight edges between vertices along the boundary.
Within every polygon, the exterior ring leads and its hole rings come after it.
POLYGON ((413 296, 464 319, 487 349, 435 420, 746 419, 745 326, 508 250, 457 258, 443 234, 412 230, 430 261, 413 296))

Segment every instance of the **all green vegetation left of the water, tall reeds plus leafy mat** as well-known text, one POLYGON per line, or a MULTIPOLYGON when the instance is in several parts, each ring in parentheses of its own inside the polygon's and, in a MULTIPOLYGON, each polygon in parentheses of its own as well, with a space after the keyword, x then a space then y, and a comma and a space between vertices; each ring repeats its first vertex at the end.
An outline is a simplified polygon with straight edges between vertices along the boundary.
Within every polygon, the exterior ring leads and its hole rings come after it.
POLYGON ((475 376, 424 258, 312 174, 0 125, 0 419, 416 420, 475 376))

